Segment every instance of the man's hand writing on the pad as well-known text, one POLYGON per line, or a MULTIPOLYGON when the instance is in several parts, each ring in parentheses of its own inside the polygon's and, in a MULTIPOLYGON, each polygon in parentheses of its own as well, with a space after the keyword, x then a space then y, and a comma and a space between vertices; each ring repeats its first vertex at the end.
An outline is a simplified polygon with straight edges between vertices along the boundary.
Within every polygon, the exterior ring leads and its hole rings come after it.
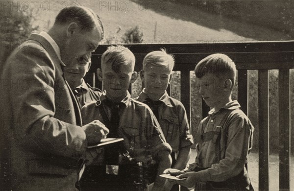
POLYGON ((99 120, 94 120, 91 123, 82 126, 82 128, 86 133, 88 145, 98 144, 101 139, 104 139, 109 133, 109 130, 99 120))

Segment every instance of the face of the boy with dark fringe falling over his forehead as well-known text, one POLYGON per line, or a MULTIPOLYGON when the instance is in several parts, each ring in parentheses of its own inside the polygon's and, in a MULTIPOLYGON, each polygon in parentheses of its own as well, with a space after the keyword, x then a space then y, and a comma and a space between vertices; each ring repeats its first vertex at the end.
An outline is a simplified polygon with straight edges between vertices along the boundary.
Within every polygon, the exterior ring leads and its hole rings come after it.
POLYGON ((105 64, 102 68, 103 88, 108 98, 124 98, 132 77, 131 65, 121 65, 121 72, 112 70, 111 64, 105 64))

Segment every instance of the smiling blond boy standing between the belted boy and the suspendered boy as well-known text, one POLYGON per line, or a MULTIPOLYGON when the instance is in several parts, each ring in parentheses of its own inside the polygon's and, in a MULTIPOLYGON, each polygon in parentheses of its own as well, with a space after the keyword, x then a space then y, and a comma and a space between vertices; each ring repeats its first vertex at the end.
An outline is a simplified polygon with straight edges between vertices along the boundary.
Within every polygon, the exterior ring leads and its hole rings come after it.
POLYGON ((172 146, 172 168, 183 169, 190 157, 193 138, 183 104, 166 91, 173 66, 173 56, 165 49, 149 52, 140 72, 145 88, 135 99, 146 103, 159 121, 167 142, 172 146))

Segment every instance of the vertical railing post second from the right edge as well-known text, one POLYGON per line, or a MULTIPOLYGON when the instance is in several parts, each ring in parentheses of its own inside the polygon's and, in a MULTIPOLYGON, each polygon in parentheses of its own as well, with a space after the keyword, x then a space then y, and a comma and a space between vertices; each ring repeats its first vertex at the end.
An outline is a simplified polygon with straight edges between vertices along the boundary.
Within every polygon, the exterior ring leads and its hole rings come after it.
POLYGON ((269 190, 269 71, 258 71, 259 190, 269 190))

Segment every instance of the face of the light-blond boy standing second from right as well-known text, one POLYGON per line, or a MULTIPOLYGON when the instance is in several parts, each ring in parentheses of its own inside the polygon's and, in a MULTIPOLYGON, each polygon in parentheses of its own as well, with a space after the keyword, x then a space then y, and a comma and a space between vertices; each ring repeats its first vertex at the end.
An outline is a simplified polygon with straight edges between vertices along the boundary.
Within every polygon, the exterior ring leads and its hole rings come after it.
POLYGON ((170 84, 171 70, 148 64, 144 71, 146 93, 163 95, 170 84))

